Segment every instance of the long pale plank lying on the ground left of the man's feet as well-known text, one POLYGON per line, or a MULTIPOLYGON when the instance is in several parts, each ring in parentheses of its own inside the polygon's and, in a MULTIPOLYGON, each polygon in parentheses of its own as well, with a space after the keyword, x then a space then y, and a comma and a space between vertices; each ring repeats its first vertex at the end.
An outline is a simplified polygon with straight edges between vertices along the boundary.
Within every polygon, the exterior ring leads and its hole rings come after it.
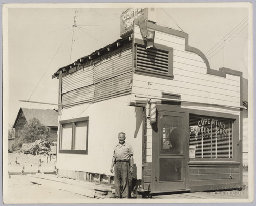
POLYGON ((46 186, 49 186, 52 188, 57 188, 57 189, 73 192, 73 193, 76 193, 79 195, 84 195, 84 196, 91 197, 91 198, 95 197, 94 190, 90 190, 90 189, 86 189, 83 187, 78 187, 75 185, 66 184, 66 183, 62 183, 62 182, 58 182, 58 181, 48 180, 48 179, 44 179, 44 178, 37 178, 37 177, 32 177, 32 176, 30 176, 30 178, 31 178, 30 181, 33 183, 36 183, 36 184, 46 185, 46 186))

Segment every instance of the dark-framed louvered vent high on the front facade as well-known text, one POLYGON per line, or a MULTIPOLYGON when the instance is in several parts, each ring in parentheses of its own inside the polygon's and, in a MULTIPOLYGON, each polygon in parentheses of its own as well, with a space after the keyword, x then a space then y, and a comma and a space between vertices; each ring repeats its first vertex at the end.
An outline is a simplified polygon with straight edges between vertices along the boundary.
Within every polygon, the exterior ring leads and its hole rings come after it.
POLYGON ((153 76, 173 77, 173 48, 154 44, 154 48, 146 49, 136 44, 136 72, 153 76))

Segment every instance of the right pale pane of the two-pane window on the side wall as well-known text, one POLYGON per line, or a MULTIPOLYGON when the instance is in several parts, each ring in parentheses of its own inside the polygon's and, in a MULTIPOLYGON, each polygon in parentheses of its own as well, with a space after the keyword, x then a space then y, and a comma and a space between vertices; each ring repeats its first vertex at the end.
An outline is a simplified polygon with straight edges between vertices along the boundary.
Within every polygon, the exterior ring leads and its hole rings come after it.
POLYGON ((77 122, 75 124, 75 150, 86 150, 87 122, 77 122))

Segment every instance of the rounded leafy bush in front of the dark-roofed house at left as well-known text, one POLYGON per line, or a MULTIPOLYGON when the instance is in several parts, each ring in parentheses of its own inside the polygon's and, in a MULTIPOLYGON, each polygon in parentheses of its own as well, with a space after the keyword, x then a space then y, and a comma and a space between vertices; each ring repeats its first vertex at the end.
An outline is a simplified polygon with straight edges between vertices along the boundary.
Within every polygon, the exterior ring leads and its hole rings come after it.
POLYGON ((20 139, 23 143, 33 143, 41 139, 46 141, 50 136, 49 127, 42 125, 37 118, 29 120, 20 131, 20 139))

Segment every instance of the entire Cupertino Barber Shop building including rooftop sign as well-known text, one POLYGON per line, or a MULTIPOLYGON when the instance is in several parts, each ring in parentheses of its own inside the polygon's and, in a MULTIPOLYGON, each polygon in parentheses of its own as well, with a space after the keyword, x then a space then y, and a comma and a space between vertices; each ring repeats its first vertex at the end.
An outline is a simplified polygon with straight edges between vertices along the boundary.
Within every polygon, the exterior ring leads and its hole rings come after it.
POLYGON ((242 187, 242 73, 210 68, 188 34, 157 22, 154 9, 130 8, 120 39, 54 73, 58 175, 113 184, 122 131, 137 194, 242 187))

